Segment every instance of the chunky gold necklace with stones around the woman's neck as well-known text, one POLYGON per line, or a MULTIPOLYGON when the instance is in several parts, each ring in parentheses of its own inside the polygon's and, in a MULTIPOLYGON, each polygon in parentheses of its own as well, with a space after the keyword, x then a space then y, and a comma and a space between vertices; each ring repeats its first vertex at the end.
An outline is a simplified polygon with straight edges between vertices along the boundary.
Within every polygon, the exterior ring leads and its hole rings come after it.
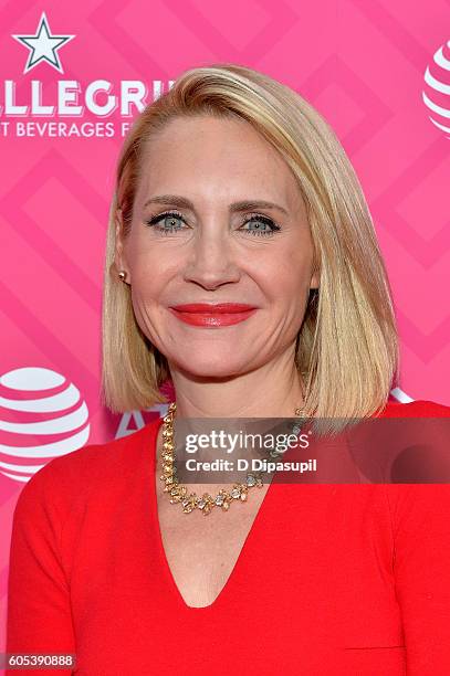
MULTIPOLYGON (((221 507, 222 511, 228 511, 232 501, 244 503, 251 488, 262 488, 261 473, 252 472, 247 474, 244 484, 233 484, 231 490, 221 488, 216 497, 212 497, 209 493, 203 493, 201 497, 196 493, 188 495, 187 487, 179 484, 176 477, 174 456, 174 414, 176 409, 177 404, 175 402, 170 403, 167 414, 163 418, 163 474, 159 477, 160 480, 165 482, 163 492, 169 494, 171 504, 181 503, 185 514, 189 514, 193 509, 201 509, 203 515, 208 516, 213 507, 221 507)), ((295 409, 295 415, 301 415, 301 413, 300 409, 295 409)), ((296 434, 299 431, 300 427, 294 426, 293 432, 296 434)), ((278 457, 280 453, 272 451, 269 455, 278 457)))

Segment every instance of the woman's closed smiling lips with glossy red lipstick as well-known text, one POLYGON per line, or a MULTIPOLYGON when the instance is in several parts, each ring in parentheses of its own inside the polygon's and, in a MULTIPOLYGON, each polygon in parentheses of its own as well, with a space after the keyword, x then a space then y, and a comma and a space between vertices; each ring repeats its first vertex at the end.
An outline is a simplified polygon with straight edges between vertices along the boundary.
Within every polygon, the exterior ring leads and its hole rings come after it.
POLYGON ((243 303, 188 303, 175 305, 169 310, 191 326, 217 327, 239 324, 250 317, 258 308, 243 303))

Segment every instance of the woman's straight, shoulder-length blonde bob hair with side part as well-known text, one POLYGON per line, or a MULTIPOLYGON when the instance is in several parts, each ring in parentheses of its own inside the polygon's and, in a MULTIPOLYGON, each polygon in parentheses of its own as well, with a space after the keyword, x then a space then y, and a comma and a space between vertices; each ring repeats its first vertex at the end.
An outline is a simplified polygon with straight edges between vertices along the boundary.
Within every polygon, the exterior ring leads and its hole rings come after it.
POLYGON ((398 338, 358 179, 332 128, 302 96, 268 75, 228 63, 182 73, 140 113, 125 138, 106 245, 103 403, 117 413, 168 401, 160 391, 170 379, 167 360, 139 328, 130 287, 117 277, 115 229, 121 213, 124 236, 129 232, 146 141, 170 119, 198 115, 247 120, 279 150, 304 199, 320 273, 296 339, 304 413, 349 419, 378 413, 397 379, 398 338))

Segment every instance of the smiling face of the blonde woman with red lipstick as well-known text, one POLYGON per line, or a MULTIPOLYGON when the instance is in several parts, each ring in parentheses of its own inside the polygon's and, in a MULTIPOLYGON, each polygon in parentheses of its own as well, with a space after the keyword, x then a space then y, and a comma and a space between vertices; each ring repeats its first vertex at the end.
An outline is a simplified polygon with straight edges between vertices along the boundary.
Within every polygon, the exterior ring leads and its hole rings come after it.
POLYGON ((317 286, 312 239, 293 175, 251 125, 170 120, 146 147, 130 232, 116 232, 136 319, 171 369, 224 378, 293 359, 317 286), (174 309, 198 303, 253 309, 174 309))

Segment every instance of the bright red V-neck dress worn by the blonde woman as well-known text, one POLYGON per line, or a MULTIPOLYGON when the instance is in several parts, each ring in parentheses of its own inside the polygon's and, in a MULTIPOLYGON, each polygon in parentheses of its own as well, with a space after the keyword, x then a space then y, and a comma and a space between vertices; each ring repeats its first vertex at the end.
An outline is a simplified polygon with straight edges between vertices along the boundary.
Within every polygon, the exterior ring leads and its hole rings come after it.
POLYGON ((57 457, 22 489, 7 652, 77 662, 7 675, 450 674, 450 485, 272 483, 218 599, 189 608, 157 518, 160 424, 57 457))

